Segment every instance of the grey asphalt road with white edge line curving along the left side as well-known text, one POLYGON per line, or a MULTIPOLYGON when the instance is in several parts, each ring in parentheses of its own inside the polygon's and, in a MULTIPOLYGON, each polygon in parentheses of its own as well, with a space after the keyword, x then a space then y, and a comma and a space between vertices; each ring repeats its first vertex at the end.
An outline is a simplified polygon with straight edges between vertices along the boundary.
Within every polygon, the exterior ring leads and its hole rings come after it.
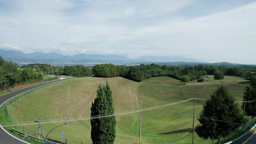
MULTIPOLYGON (((38 84, 38 85, 32 85, 32 86, 29 86, 26 88, 22 88, 22 89, 7 93, 5 95, 1 95, 0 96, 0 105, 3 105, 3 103, 5 101, 7 101, 8 99, 10 99, 16 95, 19 95, 23 92, 29 91, 33 88, 37 88, 37 87, 40 87, 43 85, 47 85, 50 83, 59 82, 59 81, 63 81, 63 80, 66 80, 66 79, 56 80, 56 81, 52 81, 52 82, 46 82, 46 83, 42 83, 42 84, 38 84)), ((19 138, 14 137, 13 135, 7 133, 7 131, 5 131, 3 129, 3 127, 0 126, 0 144, 29 144, 29 143, 22 141, 19 138)))

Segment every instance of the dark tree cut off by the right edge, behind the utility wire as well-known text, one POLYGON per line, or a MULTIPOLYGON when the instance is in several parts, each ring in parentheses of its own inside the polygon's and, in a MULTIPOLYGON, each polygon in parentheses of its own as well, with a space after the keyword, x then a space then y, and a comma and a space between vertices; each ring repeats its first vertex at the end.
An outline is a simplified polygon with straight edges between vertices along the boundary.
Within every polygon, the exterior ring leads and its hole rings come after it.
MULTIPOLYGON (((250 85, 247 85, 243 91, 243 101, 253 101, 256 99, 256 78, 252 79, 250 85)), ((245 102, 243 103, 243 108, 245 105, 245 112, 249 116, 256 116, 256 103, 255 102, 245 102)))

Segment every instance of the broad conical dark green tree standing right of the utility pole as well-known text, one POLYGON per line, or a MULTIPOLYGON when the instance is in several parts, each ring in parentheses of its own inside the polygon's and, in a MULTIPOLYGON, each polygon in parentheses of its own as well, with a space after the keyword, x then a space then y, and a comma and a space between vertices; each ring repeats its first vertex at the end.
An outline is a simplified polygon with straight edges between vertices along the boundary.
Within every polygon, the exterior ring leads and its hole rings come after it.
POLYGON ((210 95, 210 99, 206 101, 205 105, 203 105, 203 110, 200 112, 200 118, 198 118, 200 124, 195 129, 198 136, 203 139, 210 138, 212 141, 217 139, 218 144, 220 144, 220 138, 228 136, 240 127, 238 124, 223 121, 245 124, 247 119, 235 100, 228 93, 226 87, 219 86, 210 95))

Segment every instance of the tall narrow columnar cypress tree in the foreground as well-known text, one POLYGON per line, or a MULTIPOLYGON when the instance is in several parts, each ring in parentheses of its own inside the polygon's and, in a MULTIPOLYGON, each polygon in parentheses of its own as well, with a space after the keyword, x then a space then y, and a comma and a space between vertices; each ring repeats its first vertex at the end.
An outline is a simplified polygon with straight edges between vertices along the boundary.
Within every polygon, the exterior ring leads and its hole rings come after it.
MULTIPOLYGON (((97 97, 92 103, 91 117, 114 114, 112 91, 108 82, 106 86, 99 85, 97 97)), ((113 144, 115 141, 115 116, 94 118, 91 120, 91 138, 93 144, 113 144)))

